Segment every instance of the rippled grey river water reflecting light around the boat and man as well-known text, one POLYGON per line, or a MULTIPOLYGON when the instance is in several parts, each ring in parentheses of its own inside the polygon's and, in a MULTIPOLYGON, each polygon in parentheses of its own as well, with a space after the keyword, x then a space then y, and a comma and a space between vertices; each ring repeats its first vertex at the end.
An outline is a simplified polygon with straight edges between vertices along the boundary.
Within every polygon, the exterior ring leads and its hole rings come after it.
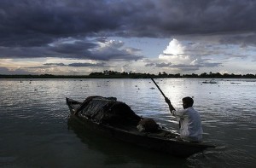
POLYGON ((217 148, 188 159, 114 141, 73 124, 65 97, 114 96, 177 130, 150 79, 1 79, 0 167, 256 167, 256 81, 155 79, 174 107, 194 97, 203 140, 217 148))

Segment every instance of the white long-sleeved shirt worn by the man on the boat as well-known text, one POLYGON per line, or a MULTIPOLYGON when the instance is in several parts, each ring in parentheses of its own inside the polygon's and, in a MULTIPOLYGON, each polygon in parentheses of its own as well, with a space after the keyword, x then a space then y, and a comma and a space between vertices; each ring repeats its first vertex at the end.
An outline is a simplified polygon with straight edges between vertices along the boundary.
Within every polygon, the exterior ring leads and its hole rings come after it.
POLYGON ((180 136, 184 140, 200 142, 202 138, 201 118, 193 107, 172 110, 172 115, 179 118, 180 136))

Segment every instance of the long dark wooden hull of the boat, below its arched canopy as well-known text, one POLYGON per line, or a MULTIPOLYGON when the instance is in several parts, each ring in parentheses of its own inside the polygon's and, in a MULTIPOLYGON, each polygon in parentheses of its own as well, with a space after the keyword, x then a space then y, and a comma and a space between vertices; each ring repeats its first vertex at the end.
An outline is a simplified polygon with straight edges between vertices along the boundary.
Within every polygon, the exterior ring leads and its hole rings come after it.
POLYGON ((178 157, 189 157, 192 154, 200 153, 206 148, 214 148, 202 142, 183 142, 176 138, 177 134, 171 130, 160 130, 157 132, 140 132, 137 125, 105 125, 95 122, 86 117, 75 114, 82 102, 66 98, 67 106, 70 109, 70 117, 90 130, 110 136, 122 142, 129 142, 134 145, 149 148, 162 153, 172 154, 178 157))

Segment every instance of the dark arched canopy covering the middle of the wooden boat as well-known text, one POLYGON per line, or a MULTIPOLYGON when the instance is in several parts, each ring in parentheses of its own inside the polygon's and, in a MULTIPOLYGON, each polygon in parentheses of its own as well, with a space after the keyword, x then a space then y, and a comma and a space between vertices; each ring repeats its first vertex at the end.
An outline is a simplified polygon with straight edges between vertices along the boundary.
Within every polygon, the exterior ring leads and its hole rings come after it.
POLYGON ((90 96, 80 105, 76 114, 103 125, 137 125, 142 119, 124 102, 115 97, 90 96))

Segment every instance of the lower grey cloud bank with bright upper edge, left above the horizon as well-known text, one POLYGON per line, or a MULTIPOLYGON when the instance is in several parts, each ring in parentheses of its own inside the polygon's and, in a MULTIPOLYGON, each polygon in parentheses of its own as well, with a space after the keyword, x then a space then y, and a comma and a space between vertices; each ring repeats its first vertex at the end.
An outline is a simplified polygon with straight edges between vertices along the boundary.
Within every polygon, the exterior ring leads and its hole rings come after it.
MULTIPOLYGON (((102 38, 97 38, 96 40, 102 41, 102 38)), ((0 58, 60 57, 98 61, 137 61, 143 59, 143 55, 135 54, 139 51, 138 49, 120 49, 115 43, 105 42, 103 44, 104 47, 96 43, 96 41, 79 40, 72 43, 54 42, 47 46, 0 46, 0 58)))

